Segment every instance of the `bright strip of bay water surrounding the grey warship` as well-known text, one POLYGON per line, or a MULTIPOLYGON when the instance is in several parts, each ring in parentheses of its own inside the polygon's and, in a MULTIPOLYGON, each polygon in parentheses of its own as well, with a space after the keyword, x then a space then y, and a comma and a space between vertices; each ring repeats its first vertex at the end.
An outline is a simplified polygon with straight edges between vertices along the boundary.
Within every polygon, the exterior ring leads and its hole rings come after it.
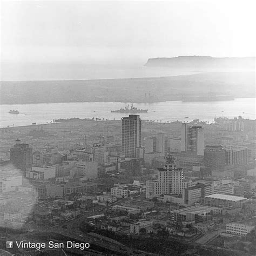
MULTIPOLYGON (((131 103, 130 103, 131 104, 131 103)), ((58 118, 100 118, 119 120, 125 113, 111 113, 125 107, 122 102, 82 102, 82 103, 48 103, 1 105, 0 127, 8 125, 23 126, 46 124, 58 118), (10 114, 9 110, 18 110, 19 114, 10 114)), ((190 122, 200 119, 213 122, 214 117, 255 119, 255 98, 241 98, 221 102, 157 102, 134 104, 139 109, 149 109, 147 113, 139 113, 143 120, 154 122, 190 122), (188 117, 188 118, 186 118, 188 117)))

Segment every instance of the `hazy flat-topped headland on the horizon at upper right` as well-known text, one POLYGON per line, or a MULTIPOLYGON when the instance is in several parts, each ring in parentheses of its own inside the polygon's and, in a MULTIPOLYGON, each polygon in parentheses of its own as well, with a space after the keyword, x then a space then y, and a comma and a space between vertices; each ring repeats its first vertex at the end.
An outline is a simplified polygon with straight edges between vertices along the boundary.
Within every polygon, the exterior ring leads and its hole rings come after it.
POLYGON ((145 66, 171 68, 254 69, 255 57, 178 56, 150 58, 145 66))

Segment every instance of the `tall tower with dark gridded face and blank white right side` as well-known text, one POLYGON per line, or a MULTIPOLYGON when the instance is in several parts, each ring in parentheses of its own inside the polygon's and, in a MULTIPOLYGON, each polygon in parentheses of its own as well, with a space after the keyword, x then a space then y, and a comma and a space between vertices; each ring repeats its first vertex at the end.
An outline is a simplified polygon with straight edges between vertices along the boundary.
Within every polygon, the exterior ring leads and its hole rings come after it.
POLYGON ((181 151, 204 156, 204 129, 201 126, 182 124, 181 151))

